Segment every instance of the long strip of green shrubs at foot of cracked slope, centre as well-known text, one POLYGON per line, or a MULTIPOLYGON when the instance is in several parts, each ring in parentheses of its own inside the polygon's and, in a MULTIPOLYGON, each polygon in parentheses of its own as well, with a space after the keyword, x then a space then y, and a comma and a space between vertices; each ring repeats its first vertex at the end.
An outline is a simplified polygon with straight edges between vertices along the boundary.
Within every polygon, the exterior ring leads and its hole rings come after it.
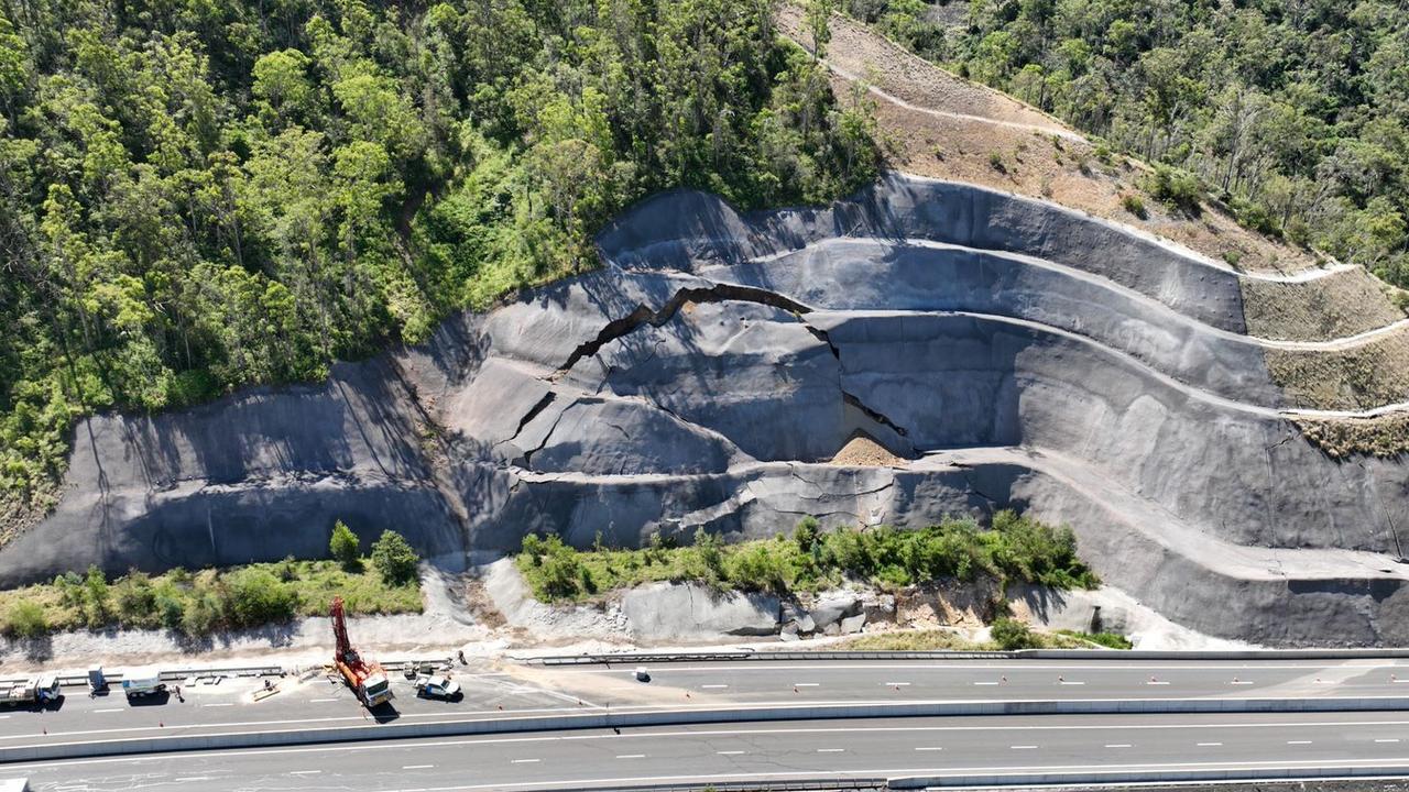
POLYGON ((937 579, 988 574, 1007 582, 1054 588, 1095 588, 1095 574, 1076 558, 1069 528, 1054 528, 1013 512, 999 512, 989 527, 945 520, 917 530, 841 528, 821 533, 803 519, 792 536, 724 545, 696 533, 695 544, 675 547, 658 536, 641 550, 600 545, 578 551, 557 536, 524 537, 520 572, 544 602, 582 600, 655 581, 697 581, 719 588, 814 592, 847 581, 899 589, 937 579))

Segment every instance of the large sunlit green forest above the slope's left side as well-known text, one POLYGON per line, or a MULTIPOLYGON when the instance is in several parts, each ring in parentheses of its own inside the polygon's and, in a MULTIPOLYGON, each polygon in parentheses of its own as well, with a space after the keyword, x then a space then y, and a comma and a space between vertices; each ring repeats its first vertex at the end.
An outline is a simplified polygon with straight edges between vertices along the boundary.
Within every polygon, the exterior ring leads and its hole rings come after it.
POLYGON ((52 502, 75 417, 424 338, 590 266, 651 192, 752 207, 869 180, 868 113, 775 7, 0 0, 10 516, 52 502))

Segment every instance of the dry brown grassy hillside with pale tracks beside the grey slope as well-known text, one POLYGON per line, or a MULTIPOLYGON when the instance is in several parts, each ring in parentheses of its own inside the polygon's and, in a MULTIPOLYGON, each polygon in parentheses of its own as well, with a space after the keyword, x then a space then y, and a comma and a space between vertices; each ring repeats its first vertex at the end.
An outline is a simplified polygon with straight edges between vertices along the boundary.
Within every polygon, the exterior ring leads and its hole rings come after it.
MULTIPOLYGON (((809 47, 797 7, 785 6, 779 25, 809 47)), ((881 134, 903 171, 1053 200, 1213 261, 1237 262, 1248 273, 1239 283, 1250 335, 1334 341, 1271 354, 1272 380, 1291 404, 1365 409, 1409 402, 1409 323, 1386 286, 1363 268, 1327 266, 1309 251, 1241 228, 1217 206, 1206 204, 1196 216, 1167 207, 1140 186, 1143 163, 1109 155, 1061 121, 934 66, 855 20, 833 16, 830 27, 833 89, 838 96, 868 89, 881 134)), ((1363 423, 1337 435, 1347 444, 1341 450, 1409 450, 1409 438, 1386 445, 1382 433, 1368 433, 1363 423)))

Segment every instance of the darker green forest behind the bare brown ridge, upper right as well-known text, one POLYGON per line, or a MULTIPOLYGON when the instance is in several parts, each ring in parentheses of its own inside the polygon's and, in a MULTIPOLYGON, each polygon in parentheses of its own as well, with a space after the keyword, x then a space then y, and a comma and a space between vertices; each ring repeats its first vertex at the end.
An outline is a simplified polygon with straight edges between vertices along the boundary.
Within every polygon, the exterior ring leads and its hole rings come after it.
POLYGON ((841 0, 1248 227, 1409 286, 1409 8, 1391 0, 841 0))

